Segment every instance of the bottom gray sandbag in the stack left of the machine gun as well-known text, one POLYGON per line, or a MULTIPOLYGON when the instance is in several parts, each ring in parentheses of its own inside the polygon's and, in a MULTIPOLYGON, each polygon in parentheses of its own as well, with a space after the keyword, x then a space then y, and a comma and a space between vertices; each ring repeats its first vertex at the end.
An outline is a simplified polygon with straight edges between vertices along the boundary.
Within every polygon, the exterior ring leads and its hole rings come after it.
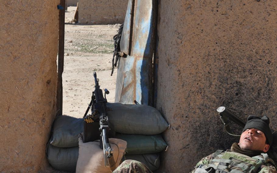
POLYGON ((48 144, 47 159, 55 169, 75 172, 78 156, 79 147, 58 148, 48 144))

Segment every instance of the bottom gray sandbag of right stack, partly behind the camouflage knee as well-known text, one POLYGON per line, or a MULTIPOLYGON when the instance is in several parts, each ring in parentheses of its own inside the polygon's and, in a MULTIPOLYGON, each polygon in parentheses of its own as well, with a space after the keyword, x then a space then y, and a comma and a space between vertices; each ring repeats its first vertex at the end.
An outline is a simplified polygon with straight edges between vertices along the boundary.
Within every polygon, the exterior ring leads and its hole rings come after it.
POLYGON ((125 155, 122 158, 124 160, 135 160, 145 164, 151 171, 156 171, 160 167, 160 154, 135 154, 125 155))

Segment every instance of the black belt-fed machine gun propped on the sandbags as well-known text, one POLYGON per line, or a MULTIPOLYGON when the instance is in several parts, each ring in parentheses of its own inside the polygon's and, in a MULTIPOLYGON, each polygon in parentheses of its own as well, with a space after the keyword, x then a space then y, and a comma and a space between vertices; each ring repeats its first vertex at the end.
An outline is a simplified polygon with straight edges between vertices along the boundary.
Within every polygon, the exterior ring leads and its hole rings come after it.
POLYGON ((108 117, 107 117, 107 99, 106 94, 109 94, 109 91, 105 89, 105 98, 103 97, 103 92, 99 86, 99 79, 96 77, 96 72, 93 73, 95 80, 95 90, 92 93, 91 101, 89 103, 89 107, 86 110, 84 115, 84 142, 93 141, 89 135, 89 133, 93 133, 91 129, 95 129, 95 125, 91 128, 93 122, 99 122, 99 131, 100 131, 100 148, 103 149, 104 152, 104 164, 106 167, 110 167, 111 171, 114 171, 116 168, 114 157, 113 157, 113 149, 110 146, 108 133, 109 133, 109 125, 108 125, 108 117), (87 115, 89 109, 91 109, 91 115, 87 115), (91 124, 91 125, 90 125, 91 124), (90 127, 89 127, 90 126, 90 127), (89 129, 89 130, 88 130, 89 129), (86 134, 88 133, 88 134, 86 134))

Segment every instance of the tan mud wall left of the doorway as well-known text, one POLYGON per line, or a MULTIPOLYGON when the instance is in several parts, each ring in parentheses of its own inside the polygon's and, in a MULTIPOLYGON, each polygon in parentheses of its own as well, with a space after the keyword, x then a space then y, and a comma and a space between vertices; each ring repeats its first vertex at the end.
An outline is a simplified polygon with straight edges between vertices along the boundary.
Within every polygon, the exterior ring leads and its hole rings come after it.
POLYGON ((0 172, 37 172, 56 115, 58 0, 0 6, 0 172))

